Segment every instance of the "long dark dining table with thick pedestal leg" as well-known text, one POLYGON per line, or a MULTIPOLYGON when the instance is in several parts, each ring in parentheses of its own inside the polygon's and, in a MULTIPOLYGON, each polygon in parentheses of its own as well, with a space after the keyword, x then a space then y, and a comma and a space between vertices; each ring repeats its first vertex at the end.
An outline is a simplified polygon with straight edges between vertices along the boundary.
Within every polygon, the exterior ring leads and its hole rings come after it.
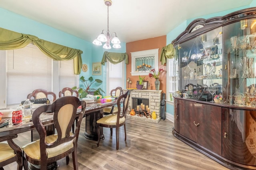
MULTIPOLYGON (((103 109, 105 107, 112 107, 117 104, 116 98, 113 98, 111 101, 105 101, 102 102, 101 100, 96 100, 92 103, 86 103, 86 109, 85 109, 85 132, 84 132, 84 137, 90 140, 97 141, 98 140, 98 134, 97 134, 97 123, 96 121, 103 117, 103 109)), ((40 107, 40 106, 38 106, 40 107)), ((78 107, 77 109, 77 116, 79 115, 81 109, 78 107)), ((1 110, 0 110, 1 112, 1 110)), ((42 124, 45 127, 51 127, 54 124, 53 121, 53 112, 46 112, 42 113, 40 116, 40 119, 42 121, 42 124)), ((13 124, 12 123, 12 117, 5 117, 2 118, 2 121, 8 121, 8 125, 1 127, 0 128, 0 138, 11 136, 11 135, 18 135, 19 133, 24 133, 27 131, 31 131, 36 129, 33 122, 32 122, 32 117, 23 117, 22 122, 18 124, 13 124)), ((1 121, 1 122, 2 122, 1 121)), ((49 128, 50 131, 48 134, 54 133, 54 128, 49 128)), ((39 138, 38 138, 39 139, 39 138)), ((100 129, 100 140, 104 140, 104 134, 103 134, 103 129, 100 129)), ((35 168, 36 169, 36 168, 35 168)), ((39 168, 40 169, 40 168, 39 168)), ((51 169, 51 168, 49 168, 51 169)))

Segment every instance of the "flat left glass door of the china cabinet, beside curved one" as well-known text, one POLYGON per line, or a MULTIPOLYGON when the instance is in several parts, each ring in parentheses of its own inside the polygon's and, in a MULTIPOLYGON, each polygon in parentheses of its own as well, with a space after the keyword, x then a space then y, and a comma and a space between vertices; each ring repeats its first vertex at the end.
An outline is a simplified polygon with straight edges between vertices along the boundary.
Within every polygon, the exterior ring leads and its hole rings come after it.
POLYGON ((213 102, 216 95, 222 96, 222 27, 175 48, 178 50, 181 97, 213 102))

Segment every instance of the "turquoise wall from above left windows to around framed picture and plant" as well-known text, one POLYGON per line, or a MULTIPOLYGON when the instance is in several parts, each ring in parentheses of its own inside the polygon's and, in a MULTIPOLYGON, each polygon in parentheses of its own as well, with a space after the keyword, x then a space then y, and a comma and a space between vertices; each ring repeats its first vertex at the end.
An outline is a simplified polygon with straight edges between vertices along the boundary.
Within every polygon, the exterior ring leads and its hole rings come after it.
MULTIPOLYGON (((35 35, 40 39, 82 50, 82 63, 88 65, 88 71, 81 71, 79 77, 84 76, 86 79, 92 75, 92 63, 101 62, 103 53, 106 50, 103 49, 102 46, 93 45, 92 42, 85 41, 74 35, 70 35, 40 22, 30 20, 2 8, 0 8, 0 27, 18 33, 35 35)), ((112 48, 109 52, 125 53, 126 43, 121 43, 121 46, 120 49, 112 48)), ((93 76, 93 78, 98 78, 103 81, 99 87, 106 92, 106 65, 102 66, 102 75, 93 76)), ((80 86, 82 85, 83 83, 80 82, 80 86)), ((95 83, 95 85, 97 86, 98 84, 95 83)))

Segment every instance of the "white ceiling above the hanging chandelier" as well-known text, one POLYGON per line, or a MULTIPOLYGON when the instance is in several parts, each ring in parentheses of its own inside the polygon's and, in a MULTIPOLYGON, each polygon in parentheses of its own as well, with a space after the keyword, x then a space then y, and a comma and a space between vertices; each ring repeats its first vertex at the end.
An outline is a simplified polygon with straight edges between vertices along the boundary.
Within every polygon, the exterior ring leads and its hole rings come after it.
MULTIPOLYGON (((109 31, 122 42, 166 35, 183 21, 249 5, 252 0, 112 0, 109 31)), ((104 0, 0 0, 0 8, 86 41, 107 29, 104 0)))

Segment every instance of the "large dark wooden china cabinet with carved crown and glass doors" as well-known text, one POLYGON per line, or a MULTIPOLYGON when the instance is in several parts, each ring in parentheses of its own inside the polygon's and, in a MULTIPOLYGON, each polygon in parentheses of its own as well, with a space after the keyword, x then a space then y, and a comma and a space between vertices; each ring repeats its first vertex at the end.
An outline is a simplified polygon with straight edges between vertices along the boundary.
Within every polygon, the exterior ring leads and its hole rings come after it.
POLYGON ((172 41, 173 135, 228 168, 256 170, 256 8, 197 19, 172 41))

